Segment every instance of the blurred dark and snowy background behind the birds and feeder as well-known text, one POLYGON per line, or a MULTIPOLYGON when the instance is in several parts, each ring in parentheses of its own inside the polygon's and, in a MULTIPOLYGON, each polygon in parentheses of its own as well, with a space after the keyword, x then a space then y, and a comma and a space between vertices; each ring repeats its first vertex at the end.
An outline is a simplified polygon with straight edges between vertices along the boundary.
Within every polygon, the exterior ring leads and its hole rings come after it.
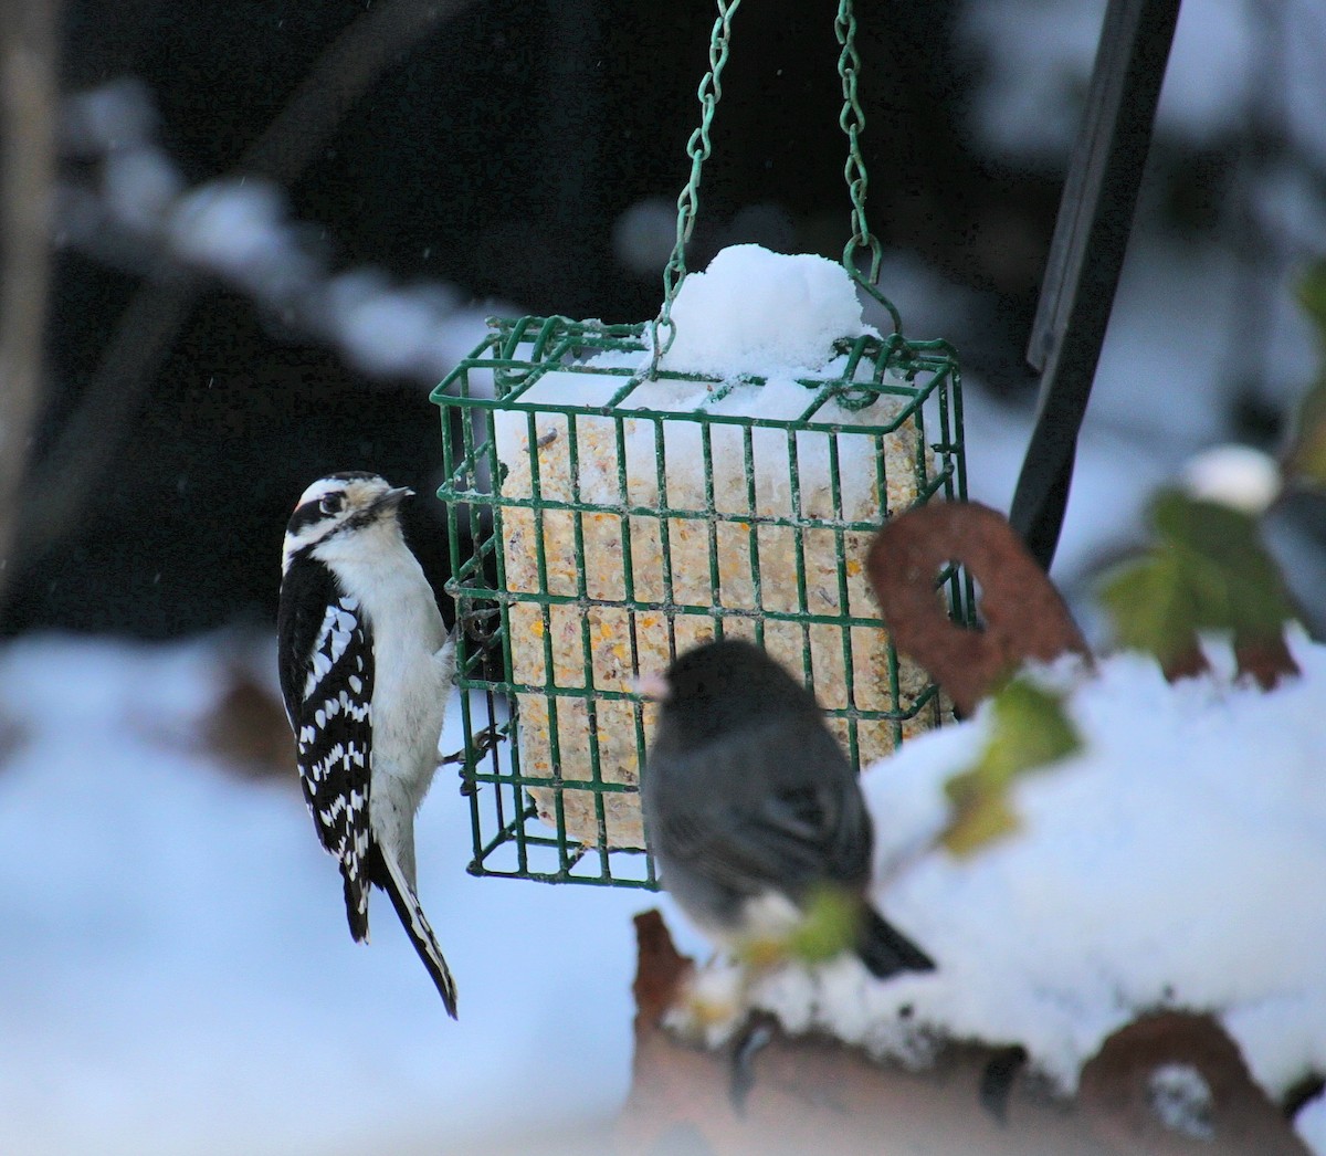
MULTIPOLYGON (((463 1148, 606 1116, 651 897, 467 878, 444 773, 420 882, 460 1025, 395 928, 350 944, 273 696, 280 542, 309 481, 374 469, 423 494, 440 587, 428 391, 488 314, 658 312, 712 7, 21 7, 52 29, 57 163, 41 390, 8 451, 0 1148, 463 1148)), ((1004 509, 1103 11, 857 7, 882 288, 957 347, 971 492, 1004 509)), ((841 253, 833 15, 737 12, 691 268, 841 253)), ((1319 370, 1296 286, 1326 255, 1323 56, 1326 0, 1183 5, 1053 571, 1097 642, 1094 575, 1150 493, 1215 444, 1276 452, 1319 370)), ((1266 529, 1314 618, 1319 500, 1266 529)))

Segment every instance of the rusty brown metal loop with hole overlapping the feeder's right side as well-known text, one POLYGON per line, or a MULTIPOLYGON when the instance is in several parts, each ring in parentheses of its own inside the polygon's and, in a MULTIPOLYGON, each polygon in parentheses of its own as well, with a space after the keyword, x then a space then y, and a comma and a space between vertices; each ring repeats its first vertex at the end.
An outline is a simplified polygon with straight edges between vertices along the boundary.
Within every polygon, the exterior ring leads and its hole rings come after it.
POLYGON ((866 570, 898 650, 920 663, 963 715, 1028 659, 1049 662, 1069 651, 1090 659, 1059 593, 989 506, 943 502, 899 514, 875 536, 866 570), (980 586, 980 630, 952 622, 935 593, 949 562, 965 566, 980 586))

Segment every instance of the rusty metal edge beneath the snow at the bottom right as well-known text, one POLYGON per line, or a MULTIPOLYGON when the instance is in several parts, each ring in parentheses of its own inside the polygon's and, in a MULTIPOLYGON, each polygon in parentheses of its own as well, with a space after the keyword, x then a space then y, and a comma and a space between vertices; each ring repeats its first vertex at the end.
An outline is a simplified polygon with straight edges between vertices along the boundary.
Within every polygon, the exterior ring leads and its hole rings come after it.
MULTIPOLYGON (((712 1156, 878 1156, 880 1152, 979 1152, 981 1156, 1307 1156, 1293 1128, 1248 1076, 1237 1049, 1205 1017, 1163 1014, 1115 1033, 1082 1074, 1075 1104, 1016 1079, 991 1114, 992 1065, 1010 1046, 949 1043, 934 1067, 907 1071, 871 1061, 825 1035, 776 1031, 760 1053, 760 1078, 739 1112, 729 1099, 725 1051, 688 1046, 659 1026, 691 962, 658 912, 635 920, 635 1059, 611 1151, 712 1156), (1158 1065, 1191 1065, 1212 1094, 1213 1135, 1166 1129, 1151 1110, 1158 1065)), ((1305 1086, 1306 1094, 1313 1088, 1305 1086)), ((607 1145, 585 1147, 601 1151, 607 1145)), ((542 1149, 540 1149, 542 1151, 542 1149)))

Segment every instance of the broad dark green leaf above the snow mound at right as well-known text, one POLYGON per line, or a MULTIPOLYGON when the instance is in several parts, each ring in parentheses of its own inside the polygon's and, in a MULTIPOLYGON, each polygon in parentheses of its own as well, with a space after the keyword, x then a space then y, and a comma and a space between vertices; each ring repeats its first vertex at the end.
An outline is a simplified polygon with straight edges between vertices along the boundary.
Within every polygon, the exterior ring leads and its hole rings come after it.
POLYGON ((1236 646, 1261 643, 1296 616, 1252 516, 1162 491, 1151 524, 1156 545, 1118 567, 1101 591, 1120 646, 1171 667, 1197 651, 1201 631, 1227 631, 1236 646))

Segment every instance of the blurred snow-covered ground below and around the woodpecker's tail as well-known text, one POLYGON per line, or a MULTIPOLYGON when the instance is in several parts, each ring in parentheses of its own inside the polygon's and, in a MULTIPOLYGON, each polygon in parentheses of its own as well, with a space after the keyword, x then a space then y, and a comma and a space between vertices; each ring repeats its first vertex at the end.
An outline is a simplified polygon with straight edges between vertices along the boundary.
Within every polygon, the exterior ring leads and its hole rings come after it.
POLYGON ((224 650, 0 656, 0 1149, 460 1151, 615 1108, 651 896, 469 878, 442 777, 419 863, 451 1022, 381 895, 373 944, 350 941, 293 770, 251 782, 190 749, 224 650))

